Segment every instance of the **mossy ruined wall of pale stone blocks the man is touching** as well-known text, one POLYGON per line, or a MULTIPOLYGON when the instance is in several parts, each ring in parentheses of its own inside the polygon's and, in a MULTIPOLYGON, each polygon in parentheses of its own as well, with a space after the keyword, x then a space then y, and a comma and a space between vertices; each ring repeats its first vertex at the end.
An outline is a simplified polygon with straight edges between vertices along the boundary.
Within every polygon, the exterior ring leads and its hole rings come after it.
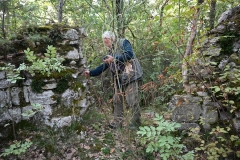
MULTIPOLYGON (((66 73, 70 75, 66 79, 66 75, 57 76, 57 78, 50 76, 39 79, 36 78, 41 77, 39 75, 31 76, 27 74, 24 81, 19 85, 7 81, 7 73, 0 71, 0 128, 2 128, 0 129, 0 135, 2 137, 7 136, 6 132, 2 133, 3 129, 7 129, 3 126, 10 121, 18 123, 21 120, 34 119, 38 124, 51 127, 68 126, 73 120, 81 119, 81 115, 93 102, 87 95, 87 80, 81 75, 85 68, 85 60, 81 51, 82 41, 85 37, 84 30, 82 28, 59 27, 39 27, 34 32, 29 31, 27 34, 23 32, 21 40, 13 40, 12 47, 18 45, 20 47, 20 49, 15 48, 15 50, 30 48, 30 50, 34 50, 36 55, 43 55, 43 48, 50 44, 53 45, 57 49, 57 54, 65 57, 64 65, 71 72, 66 73), (45 37, 45 40, 32 40, 31 35, 33 34, 45 37), (22 47, 21 44, 16 44, 19 41, 28 45, 22 47), (34 92, 32 90, 33 86, 31 86, 33 81, 36 80, 44 83, 43 86, 40 86, 40 92, 38 93, 34 92), (61 80, 65 80, 66 83, 62 84, 62 87, 66 89, 57 92, 61 80), (35 104, 40 104, 41 108, 34 108, 35 104), (74 108, 74 113, 72 108, 74 108), (23 116, 23 113, 27 112, 34 114, 23 116)), ((9 56, 9 58, 11 58, 11 62, 16 62, 17 65, 22 63, 22 59, 24 59, 24 57, 18 57, 17 60, 14 60, 13 56, 9 56)), ((3 61, 6 62, 6 60, 3 61)))

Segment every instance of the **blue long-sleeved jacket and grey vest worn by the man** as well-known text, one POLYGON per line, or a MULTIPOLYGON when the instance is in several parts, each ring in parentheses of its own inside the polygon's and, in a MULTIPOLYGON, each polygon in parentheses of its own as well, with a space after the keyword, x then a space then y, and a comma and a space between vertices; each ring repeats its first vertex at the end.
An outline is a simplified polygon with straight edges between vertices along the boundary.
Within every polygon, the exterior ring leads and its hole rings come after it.
MULTIPOLYGON (((110 55, 114 57, 115 62, 119 67, 120 79, 121 79, 121 72, 123 72, 124 70, 124 64, 126 64, 127 62, 132 63, 133 69, 135 71, 134 75, 132 75, 131 78, 129 78, 128 83, 141 79, 143 74, 142 68, 132 50, 131 43, 127 39, 119 39, 117 41, 115 53, 110 53, 110 55)), ((97 68, 90 70, 90 76, 98 76, 109 67, 110 67, 110 70, 112 71, 112 74, 116 75, 116 72, 112 69, 111 66, 114 66, 113 63, 111 65, 107 63, 102 63, 97 68)))

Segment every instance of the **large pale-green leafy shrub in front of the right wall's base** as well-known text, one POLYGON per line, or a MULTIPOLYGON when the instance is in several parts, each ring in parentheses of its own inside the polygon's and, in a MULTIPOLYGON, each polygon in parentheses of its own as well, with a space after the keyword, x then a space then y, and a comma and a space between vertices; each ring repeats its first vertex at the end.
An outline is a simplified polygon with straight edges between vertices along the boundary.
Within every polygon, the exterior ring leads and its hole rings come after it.
MULTIPOLYGON (((181 154, 185 146, 180 144, 180 137, 173 136, 176 128, 179 128, 181 125, 175 122, 168 122, 164 120, 163 116, 159 116, 159 114, 155 115, 154 123, 157 127, 139 127, 139 131, 137 132, 140 135, 141 144, 147 145, 146 152, 159 152, 164 160, 173 157, 184 159, 181 154)), ((193 151, 187 153, 185 157, 193 159, 193 151)))

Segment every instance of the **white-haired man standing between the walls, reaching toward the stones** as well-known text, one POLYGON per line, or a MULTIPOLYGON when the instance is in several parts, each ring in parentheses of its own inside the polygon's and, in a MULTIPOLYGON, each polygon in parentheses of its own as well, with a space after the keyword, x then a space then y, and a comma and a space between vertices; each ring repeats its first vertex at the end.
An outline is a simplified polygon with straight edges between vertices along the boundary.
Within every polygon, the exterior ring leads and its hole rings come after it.
POLYGON ((122 127, 125 98, 132 113, 130 128, 134 129, 140 125, 138 87, 139 81, 142 80, 142 68, 127 39, 118 39, 111 31, 105 31, 102 39, 108 53, 100 66, 90 71, 85 70, 84 75, 98 76, 110 68, 114 81, 114 120, 109 127, 113 129, 122 127))

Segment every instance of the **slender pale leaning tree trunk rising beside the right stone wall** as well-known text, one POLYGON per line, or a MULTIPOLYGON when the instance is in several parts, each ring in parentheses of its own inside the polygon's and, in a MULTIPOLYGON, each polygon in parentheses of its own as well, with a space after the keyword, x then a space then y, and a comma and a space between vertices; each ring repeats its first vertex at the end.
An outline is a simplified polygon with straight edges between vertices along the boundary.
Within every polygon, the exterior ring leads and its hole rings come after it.
POLYGON ((188 76, 188 62, 187 62, 187 57, 189 55, 192 54, 192 49, 193 49, 193 44, 194 44, 194 40, 197 34, 197 22, 199 19, 199 15, 200 15, 200 5, 204 2, 204 0, 198 0, 197 3, 197 9, 196 12, 194 14, 194 19, 192 21, 192 30, 191 30, 191 34, 190 37, 188 39, 187 42, 187 46, 186 46, 186 50, 184 53, 184 57, 183 57, 183 63, 182 63, 182 78, 183 78, 183 87, 184 87, 184 91, 186 92, 191 92, 192 88, 189 85, 189 76, 188 76))

